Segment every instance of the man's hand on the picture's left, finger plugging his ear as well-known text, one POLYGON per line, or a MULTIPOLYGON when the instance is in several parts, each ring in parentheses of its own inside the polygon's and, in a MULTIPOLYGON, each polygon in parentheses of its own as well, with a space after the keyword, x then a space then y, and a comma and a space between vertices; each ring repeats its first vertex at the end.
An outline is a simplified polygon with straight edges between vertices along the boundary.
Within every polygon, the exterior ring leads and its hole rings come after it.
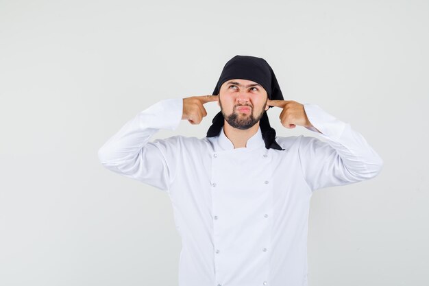
POLYGON ((207 116, 206 108, 203 104, 207 102, 217 102, 217 95, 200 95, 185 97, 183 99, 182 120, 188 120, 191 124, 199 124, 203 117, 207 116))

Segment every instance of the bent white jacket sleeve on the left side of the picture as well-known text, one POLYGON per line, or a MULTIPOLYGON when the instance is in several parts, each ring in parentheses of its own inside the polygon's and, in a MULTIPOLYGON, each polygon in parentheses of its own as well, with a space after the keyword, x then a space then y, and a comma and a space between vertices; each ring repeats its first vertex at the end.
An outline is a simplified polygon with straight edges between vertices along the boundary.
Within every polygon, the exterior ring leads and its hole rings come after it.
POLYGON ((150 137, 164 128, 175 130, 182 120, 183 99, 164 99, 139 112, 98 151, 100 163, 115 173, 169 191, 180 152, 180 136, 150 137))

